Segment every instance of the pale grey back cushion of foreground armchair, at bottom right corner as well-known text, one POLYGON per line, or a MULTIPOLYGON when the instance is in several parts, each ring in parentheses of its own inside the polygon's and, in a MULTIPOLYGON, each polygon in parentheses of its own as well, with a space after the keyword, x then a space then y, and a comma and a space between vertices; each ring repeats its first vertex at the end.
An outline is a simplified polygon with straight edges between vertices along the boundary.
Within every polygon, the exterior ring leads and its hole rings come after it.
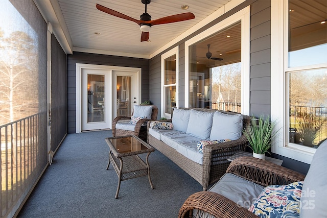
POLYGON ((313 156, 302 187, 300 217, 325 217, 327 214, 327 140, 313 156))

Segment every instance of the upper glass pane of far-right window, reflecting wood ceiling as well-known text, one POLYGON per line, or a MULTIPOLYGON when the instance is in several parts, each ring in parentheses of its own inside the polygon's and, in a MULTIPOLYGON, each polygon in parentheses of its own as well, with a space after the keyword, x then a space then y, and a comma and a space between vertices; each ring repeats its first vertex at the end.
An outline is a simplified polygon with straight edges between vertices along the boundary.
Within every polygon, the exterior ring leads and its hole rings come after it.
POLYGON ((326 1, 289 1, 289 67, 327 62, 326 11, 326 1))

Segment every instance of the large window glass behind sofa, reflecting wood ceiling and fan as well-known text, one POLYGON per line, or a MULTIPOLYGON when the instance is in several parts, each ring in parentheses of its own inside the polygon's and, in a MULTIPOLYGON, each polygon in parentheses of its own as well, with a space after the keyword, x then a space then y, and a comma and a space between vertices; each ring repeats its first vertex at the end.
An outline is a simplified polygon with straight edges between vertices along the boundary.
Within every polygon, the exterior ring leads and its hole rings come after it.
POLYGON ((190 46, 189 106, 241 112, 241 22, 190 46))

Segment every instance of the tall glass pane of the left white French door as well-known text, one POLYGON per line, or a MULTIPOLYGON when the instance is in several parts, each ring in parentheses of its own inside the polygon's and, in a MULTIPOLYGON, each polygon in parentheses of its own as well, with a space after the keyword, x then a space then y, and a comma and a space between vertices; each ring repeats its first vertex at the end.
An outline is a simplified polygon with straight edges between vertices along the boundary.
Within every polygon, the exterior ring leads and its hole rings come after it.
POLYGON ((104 75, 87 75, 87 123, 104 122, 104 75))

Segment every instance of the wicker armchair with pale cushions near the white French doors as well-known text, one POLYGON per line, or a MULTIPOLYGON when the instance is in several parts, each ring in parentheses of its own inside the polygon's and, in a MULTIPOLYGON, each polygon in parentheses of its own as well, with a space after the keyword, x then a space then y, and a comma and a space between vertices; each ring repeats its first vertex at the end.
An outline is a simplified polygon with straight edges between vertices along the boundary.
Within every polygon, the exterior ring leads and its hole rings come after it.
POLYGON ((155 105, 134 105, 134 109, 132 112, 132 116, 117 116, 113 119, 112 122, 112 136, 125 136, 125 135, 135 135, 139 138, 143 139, 144 141, 147 141, 147 125, 146 123, 151 120, 156 120, 158 115, 158 108, 155 105), (152 109, 144 110, 144 108, 152 109), (135 111, 136 109, 139 109, 138 111, 135 111), (148 113, 148 114, 147 114, 148 113), (141 117, 136 121, 135 124, 131 124, 130 120, 131 118, 136 116, 141 117), (143 118, 144 116, 147 116, 143 118))

